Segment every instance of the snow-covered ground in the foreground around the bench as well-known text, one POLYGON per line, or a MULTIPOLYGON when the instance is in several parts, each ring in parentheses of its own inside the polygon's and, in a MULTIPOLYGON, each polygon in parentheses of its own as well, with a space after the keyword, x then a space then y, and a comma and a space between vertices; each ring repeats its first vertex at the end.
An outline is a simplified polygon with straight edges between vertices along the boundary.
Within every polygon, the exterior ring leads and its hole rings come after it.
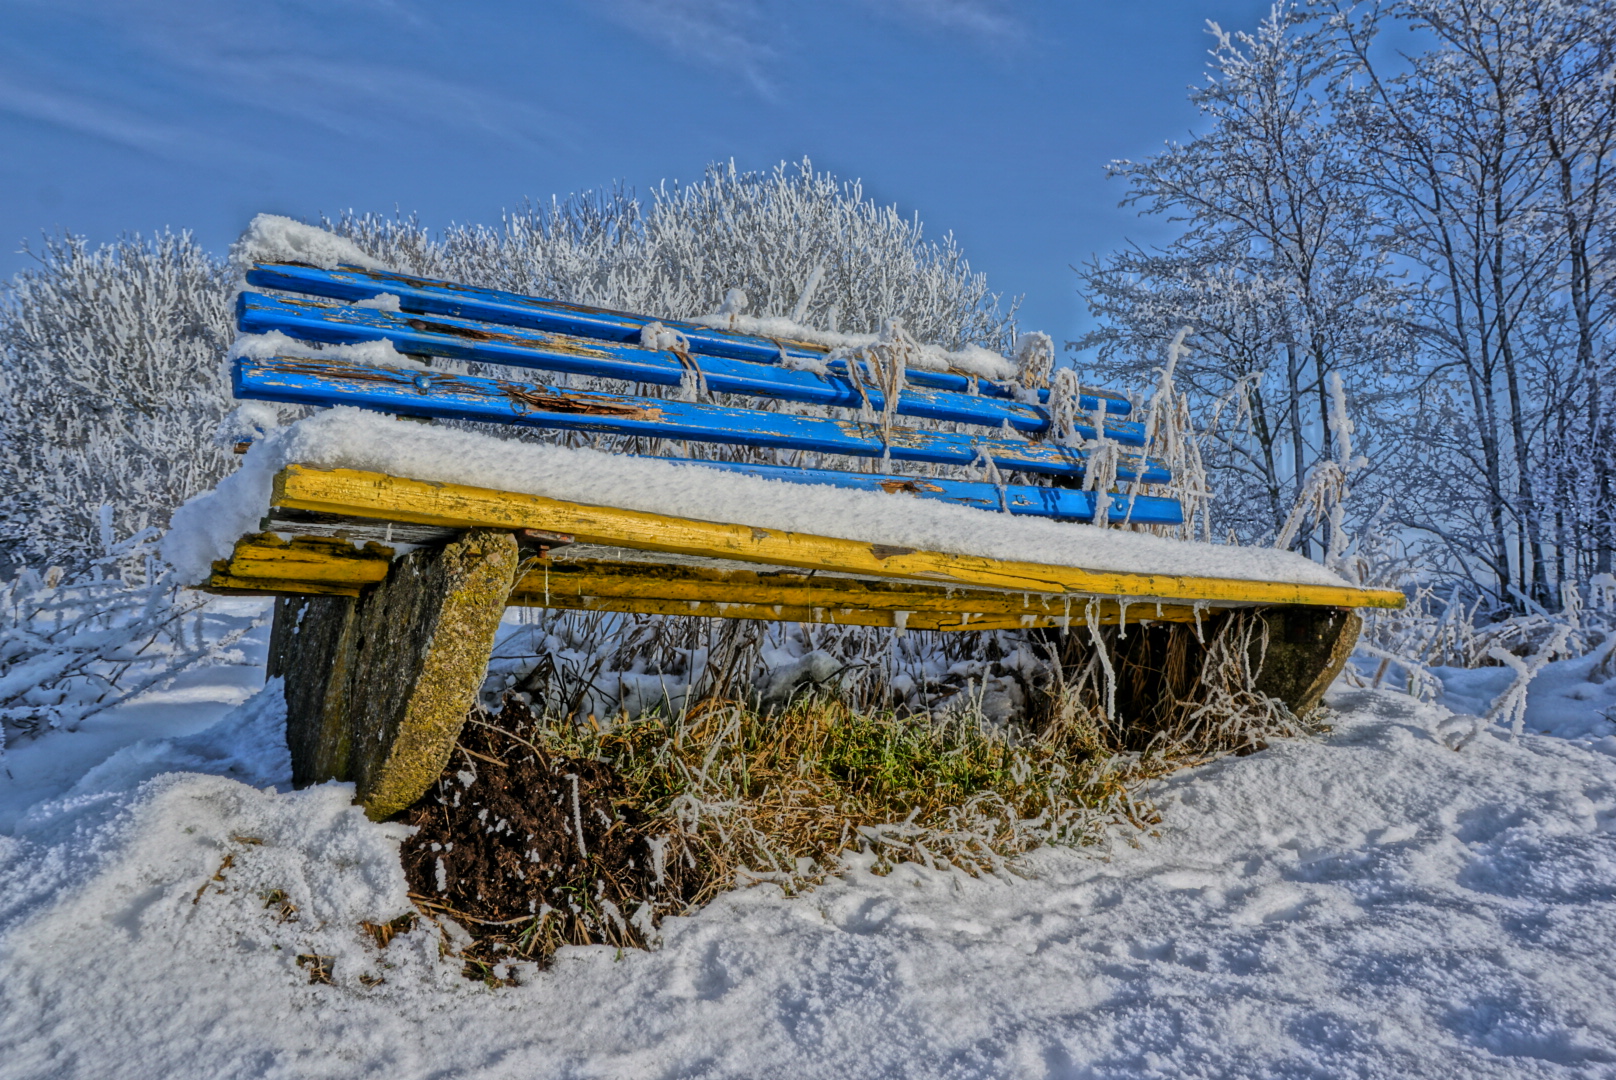
MULTIPOLYGON (((3 758, 0 1077, 1613 1077, 1616 682, 1580 663, 1517 742, 1336 690, 1327 737, 1159 784, 1155 836, 743 889, 504 989, 427 928, 375 947, 396 826, 289 791, 278 698, 215 669, 3 758)), ((1508 682, 1441 674, 1469 713, 1508 682)))

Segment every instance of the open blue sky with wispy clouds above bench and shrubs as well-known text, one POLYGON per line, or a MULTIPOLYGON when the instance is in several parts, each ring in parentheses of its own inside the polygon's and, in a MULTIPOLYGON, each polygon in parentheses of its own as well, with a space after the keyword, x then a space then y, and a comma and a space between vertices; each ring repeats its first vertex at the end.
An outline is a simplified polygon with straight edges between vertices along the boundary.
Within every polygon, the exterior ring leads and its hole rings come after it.
POLYGON ((806 155, 953 231, 1060 340, 1086 323, 1071 264, 1167 234, 1105 162, 1181 137, 1206 19, 1267 6, 0 0, 0 276, 42 230, 223 251, 260 210, 496 221, 806 155))

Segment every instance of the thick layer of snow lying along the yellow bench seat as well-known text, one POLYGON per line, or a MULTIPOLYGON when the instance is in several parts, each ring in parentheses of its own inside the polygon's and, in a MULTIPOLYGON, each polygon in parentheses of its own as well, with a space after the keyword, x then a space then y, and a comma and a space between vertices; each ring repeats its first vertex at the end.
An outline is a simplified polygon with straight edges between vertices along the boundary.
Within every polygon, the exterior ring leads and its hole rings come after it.
POLYGON ((268 509, 273 477, 289 462, 1094 571, 1346 584, 1317 563, 1272 548, 1189 543, 876 491, 787 483, 595 449, 520 443, 406 424, 351 407, 320 412, 254 443, 238 472, 175 513, 163 540, 163 558, 186 580, 204 580, 213 559, 228 558, 239 537, 257 532, 268 509))

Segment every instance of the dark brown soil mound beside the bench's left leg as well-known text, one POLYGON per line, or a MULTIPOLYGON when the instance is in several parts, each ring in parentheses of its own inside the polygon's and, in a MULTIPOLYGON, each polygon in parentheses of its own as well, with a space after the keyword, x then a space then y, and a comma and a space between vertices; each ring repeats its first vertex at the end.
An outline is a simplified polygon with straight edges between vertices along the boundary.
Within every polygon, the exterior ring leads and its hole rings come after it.
POLYGON ((412 897, 472 936, 467 975, 548 964, 561 944, 643 946, 656 917, 700 892, 612 766, 548 753, 537 729, 519 702, 473 711, 448 768, 398 816, 417 828, 401 850, 412 897))

